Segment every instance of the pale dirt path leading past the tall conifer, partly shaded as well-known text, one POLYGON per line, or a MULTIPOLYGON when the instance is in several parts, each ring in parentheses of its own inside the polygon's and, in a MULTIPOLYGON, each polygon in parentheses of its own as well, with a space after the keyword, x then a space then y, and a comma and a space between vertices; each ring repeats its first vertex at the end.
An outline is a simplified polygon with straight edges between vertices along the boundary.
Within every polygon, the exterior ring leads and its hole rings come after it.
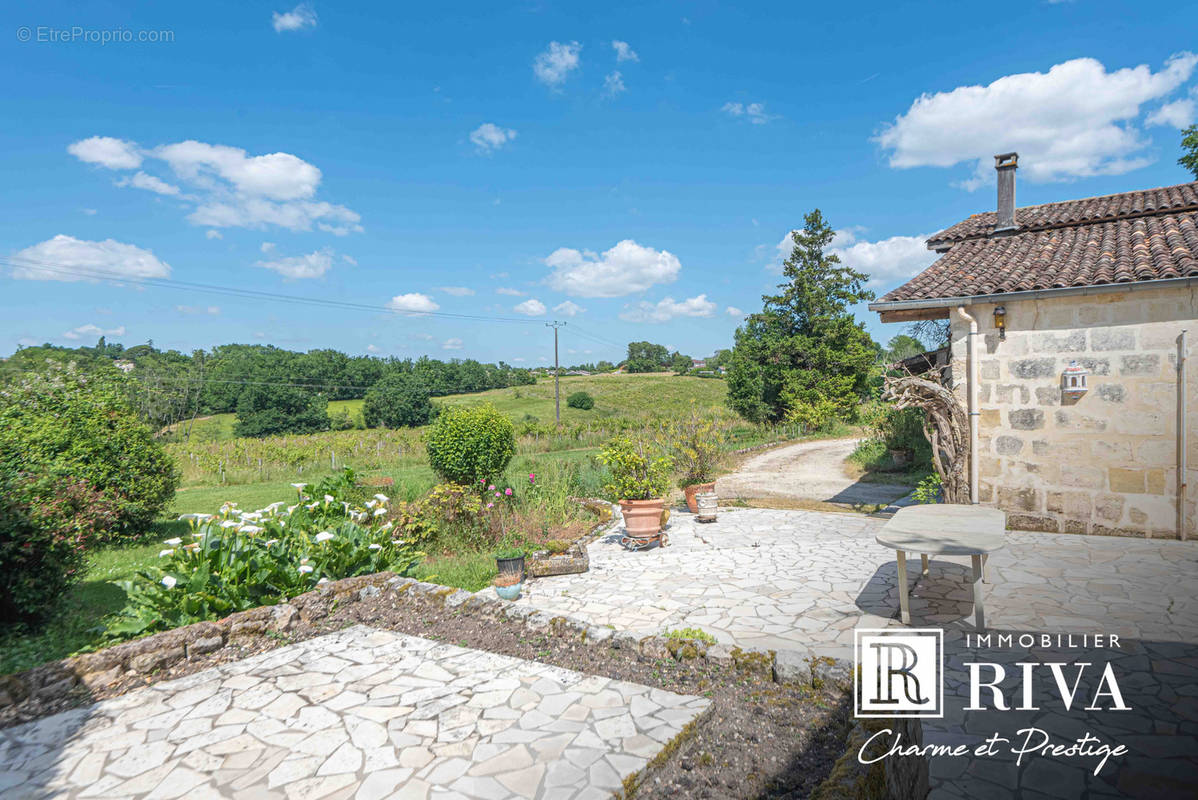
POLYGON ((799 442, 751 456, 715 484, 720 498, 772 499, 837 505, 890 503, 909 486, 863 483, 845 471, 857 438, 799 442))

